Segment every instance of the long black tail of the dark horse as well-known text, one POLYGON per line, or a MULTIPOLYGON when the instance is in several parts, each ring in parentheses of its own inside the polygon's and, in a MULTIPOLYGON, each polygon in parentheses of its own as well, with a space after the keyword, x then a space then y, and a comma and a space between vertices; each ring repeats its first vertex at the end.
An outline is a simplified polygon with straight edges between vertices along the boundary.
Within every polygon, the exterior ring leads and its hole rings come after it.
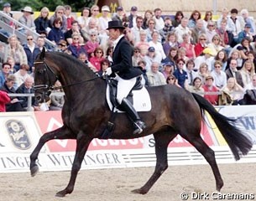
POLYGON ((192 93, 192 95, 201 107, 201 110, 207 111, 212 116, 213 121, 216 123, 219 131, 221 131, 235 159, 239 160, 241 155, 246 155, 253 147, 253 142, 243 131, 240 131, 234 125, 237 119, 230 119, 227 116, 223 116, 201 95, 195 93, 192 93))

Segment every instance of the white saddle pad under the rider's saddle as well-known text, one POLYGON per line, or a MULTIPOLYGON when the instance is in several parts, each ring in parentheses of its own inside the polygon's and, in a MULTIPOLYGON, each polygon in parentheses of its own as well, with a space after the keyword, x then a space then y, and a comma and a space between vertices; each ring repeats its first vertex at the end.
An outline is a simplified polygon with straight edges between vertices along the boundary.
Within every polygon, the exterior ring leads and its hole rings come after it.
MULTIPOLYGON (((109 85, 107 85, 106 90, 107 105, 109 109, 112 110, 112 103, 109 98, 109 85)), ((133 90, 133 107, 136 111, 151 111, 151 101, 148 90, 143 87, 141 90, 133 90)), ((117 108, 114 108, 114 111, 119 111, 117 108)))

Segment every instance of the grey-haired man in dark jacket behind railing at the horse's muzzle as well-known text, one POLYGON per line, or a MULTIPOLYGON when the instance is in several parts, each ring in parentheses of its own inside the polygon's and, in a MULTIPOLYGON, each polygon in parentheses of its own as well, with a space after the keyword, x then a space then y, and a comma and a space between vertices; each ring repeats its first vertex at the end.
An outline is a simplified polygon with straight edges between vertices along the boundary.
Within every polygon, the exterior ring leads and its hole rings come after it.
MULTIPOLYGON (((16 93, 18 94, 34 94, 34 79, 29 76, 26 78, 24 83, 18 87, 16 93)), ((32 97, 32 108, 28 106, 28 96, 19 96, 18 100, 21 101, 22 107, 27 110, 40 111, 40 106, 37 101, 35 101, 34 97, 32 97)))

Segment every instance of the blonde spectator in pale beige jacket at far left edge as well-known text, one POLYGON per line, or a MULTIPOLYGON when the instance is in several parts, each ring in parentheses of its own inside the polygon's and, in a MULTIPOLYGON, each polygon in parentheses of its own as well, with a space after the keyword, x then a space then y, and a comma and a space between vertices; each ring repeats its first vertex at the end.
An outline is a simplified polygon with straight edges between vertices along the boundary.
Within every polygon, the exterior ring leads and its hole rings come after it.
POLYGON ((24 47, 19 44, 16 35, 11 35, 8 38, 8 43, 3 60, 6 61, 8 57, 12 57, 15 60, 14 69, 19 70, 20 64, 28 64, 27 54, 24 51, 24 47))

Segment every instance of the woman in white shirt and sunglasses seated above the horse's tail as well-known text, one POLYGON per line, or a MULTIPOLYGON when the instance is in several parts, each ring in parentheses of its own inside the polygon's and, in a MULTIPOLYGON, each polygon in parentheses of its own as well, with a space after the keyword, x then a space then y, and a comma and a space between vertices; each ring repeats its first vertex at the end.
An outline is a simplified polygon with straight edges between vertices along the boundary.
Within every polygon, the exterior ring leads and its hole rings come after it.
POLYGON ((217 86, 218 89, 222 89, 224 85, 227 85, 227 75, 222 71, 221 61, 214 62, 214 70, 212 70, 211 75, 214 79, 213 85, 217 86))

